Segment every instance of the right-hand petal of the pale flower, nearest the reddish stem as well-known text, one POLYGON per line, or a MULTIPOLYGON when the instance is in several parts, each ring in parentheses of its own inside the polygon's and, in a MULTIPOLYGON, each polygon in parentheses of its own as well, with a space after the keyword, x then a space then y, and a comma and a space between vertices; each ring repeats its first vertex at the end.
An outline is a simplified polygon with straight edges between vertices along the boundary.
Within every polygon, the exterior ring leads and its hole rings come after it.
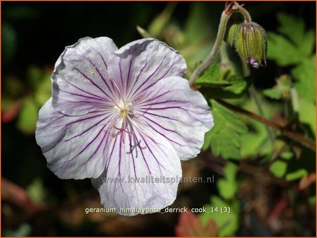
MULTIPOLYGON (((133 107, 139 120, 171 142, 181 160, 197 156, 213 127, 205 98, 180 77, 161 79, 133 107)), ((141 122, 140 122, 141 123, 141 122)))

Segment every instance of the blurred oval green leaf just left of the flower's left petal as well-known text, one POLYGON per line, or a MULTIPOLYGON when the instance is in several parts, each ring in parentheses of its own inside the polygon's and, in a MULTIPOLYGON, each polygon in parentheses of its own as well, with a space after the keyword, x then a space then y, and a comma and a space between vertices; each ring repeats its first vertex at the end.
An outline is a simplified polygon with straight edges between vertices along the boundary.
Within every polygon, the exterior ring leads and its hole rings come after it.
POLYGON ((38 118, 38 106, 32 98, 27 98, 17 118, 17 127, 25 134, 33 134, 38 118))

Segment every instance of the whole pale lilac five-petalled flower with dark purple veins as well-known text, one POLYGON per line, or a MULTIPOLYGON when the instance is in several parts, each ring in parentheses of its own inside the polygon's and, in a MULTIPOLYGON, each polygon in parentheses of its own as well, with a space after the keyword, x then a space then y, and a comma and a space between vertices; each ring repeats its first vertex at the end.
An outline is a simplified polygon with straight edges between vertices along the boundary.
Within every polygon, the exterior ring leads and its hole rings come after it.
POLYGON ((118 212, 172 204, 180 160, 197 156, 213 126, 206 100, 181 78, 185 71, 182 55, 156 39, 118 50, 110 38, 86 37, 67 47, 37 122, 48 167, 62 179, 91 178, 101 203, 118 212), (140 182, 147 177, 174 182, 140 182))

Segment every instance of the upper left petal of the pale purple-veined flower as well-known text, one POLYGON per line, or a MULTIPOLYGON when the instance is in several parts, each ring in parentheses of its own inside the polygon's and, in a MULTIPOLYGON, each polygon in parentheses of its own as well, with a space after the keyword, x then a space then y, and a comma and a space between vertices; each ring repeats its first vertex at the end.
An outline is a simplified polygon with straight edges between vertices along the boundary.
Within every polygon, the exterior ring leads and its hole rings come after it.
POLYGON ((79 116, 116 100, 118 91, 108 76, 109 57, 115 50, 116 45, 108 37, 86 37, 66 47, 51 77, 53 107, 79 116))

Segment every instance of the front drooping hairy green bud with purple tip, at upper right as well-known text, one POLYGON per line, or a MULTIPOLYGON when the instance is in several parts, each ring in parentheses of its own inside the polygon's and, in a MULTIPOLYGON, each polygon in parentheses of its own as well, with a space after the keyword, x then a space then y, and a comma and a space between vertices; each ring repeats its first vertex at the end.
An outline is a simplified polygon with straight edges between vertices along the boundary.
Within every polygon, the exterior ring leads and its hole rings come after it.
POLYGON ((236 34, 235 47, 240 57, 252 67, 266 65, 266 33, 256 23, 243 23, 236 34))

